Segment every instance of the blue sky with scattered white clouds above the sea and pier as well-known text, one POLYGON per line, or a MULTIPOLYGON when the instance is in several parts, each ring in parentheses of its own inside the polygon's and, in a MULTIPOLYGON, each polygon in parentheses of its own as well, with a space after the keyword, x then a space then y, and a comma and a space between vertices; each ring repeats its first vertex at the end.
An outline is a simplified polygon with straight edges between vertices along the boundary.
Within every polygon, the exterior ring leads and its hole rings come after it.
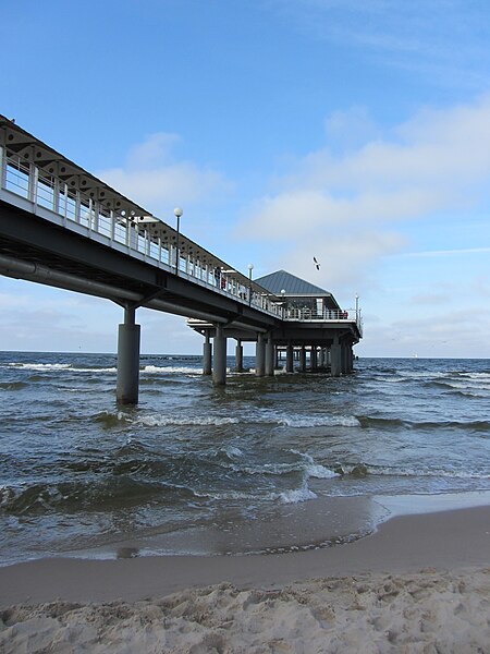
MULTIPOLYGON (((1 15, 1 113, 161 219, 182 206, 182 231, 245 274, 358 293, 362 356, 490 356, 489 2, 1 15)), ((0 349, 115 350, 108 301, 1 277, 0 308, 0 349)), ((138 322, 145 352, 201 350, 183 318, 138 322)))

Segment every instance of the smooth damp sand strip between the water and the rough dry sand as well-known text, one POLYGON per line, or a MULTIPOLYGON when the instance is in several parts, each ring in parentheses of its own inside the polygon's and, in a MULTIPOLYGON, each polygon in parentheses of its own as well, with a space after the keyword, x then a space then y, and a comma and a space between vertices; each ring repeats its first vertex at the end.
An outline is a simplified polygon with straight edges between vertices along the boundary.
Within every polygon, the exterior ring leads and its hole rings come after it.
POLYGON ((66 602, 136 602, 232 583, 275 589, 316 578, 464 570, 490 566, 490 506, 395 516, 353 543, 307 552, 37 559, 0 568, 0 607, 66 602))

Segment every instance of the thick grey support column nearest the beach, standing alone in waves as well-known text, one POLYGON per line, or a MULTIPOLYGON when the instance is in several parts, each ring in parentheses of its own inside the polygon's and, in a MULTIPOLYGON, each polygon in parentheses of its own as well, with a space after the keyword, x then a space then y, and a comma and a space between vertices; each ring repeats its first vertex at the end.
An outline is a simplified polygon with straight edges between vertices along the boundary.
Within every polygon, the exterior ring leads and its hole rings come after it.
POLYGON ((124 308, 124 323, 118 331, 118 385, 120 404, 137 404, 139 391, 140 326, 135 324, 136 310, 124 308))

